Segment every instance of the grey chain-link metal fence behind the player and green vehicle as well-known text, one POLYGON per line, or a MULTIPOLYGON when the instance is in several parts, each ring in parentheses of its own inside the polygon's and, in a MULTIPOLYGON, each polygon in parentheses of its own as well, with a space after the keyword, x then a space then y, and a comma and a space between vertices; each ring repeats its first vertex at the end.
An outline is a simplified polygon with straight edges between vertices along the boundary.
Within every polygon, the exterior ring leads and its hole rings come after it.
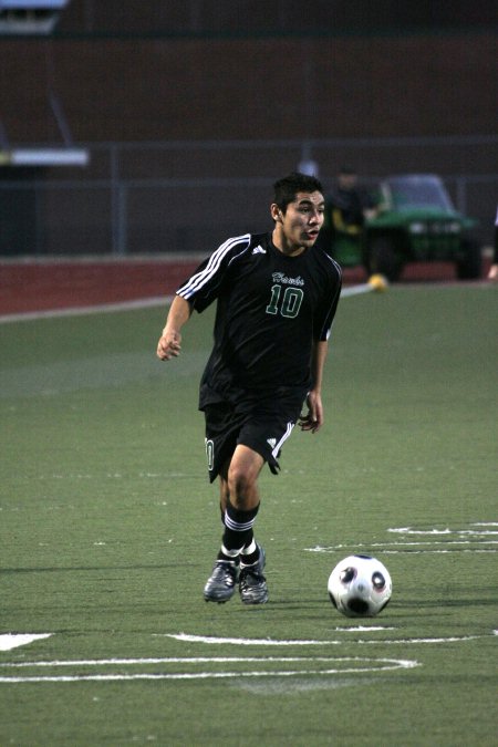
POLYGON ((0 169, 0 256, 206 253, 235 232, 264 230, 272 181, 303 154, 325 189, 344 160, 367 187, 387 174, 438 173, 485 245, 498 198, 498 173, 486 167, 497 145, 492 136, 84 145, 84 169, 0 169), (455 163, 475 168, 454 173, 455 163))

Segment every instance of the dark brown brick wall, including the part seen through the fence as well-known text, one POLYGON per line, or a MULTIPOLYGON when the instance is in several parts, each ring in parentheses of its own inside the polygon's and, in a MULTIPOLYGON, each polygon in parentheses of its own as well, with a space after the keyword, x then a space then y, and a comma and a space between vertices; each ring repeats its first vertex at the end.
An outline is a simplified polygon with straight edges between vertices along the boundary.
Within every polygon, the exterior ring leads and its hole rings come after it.
MULTIPOLYGON (((491 31, 252 40, 2 39, 0 123, 7 138, 13 145, 61 143, 48 106, 52 90, 74 141, 90 145, 92 160, 84 170, 19 174, 38 185, 71 179, 81 188, 72 184, 71 189, 3 191, 0 253, 115 250, 110 151, 92 148, 103 142, 298 144, 287 151, 257 147, 236 154, 193 147, 121 152, 120 177, 125 179, 248 181, 216 193, 197 186, 178 190, 174 184, 131 187, 125 230, 133 252, 205 252, 237 229, 242 211, 249 229, 264 227, 266 198, 261 205, 260 187, 249 186, 249 180, 271 185, 294 168, 299 144, 308 138, 352 138, 341 149, 323 145, 313 153, 321 175, 330 179, 344 162, 365 177, 413 170, 447 177, 496 174, 496 143, 402 148, 364 144, 370 138, 496 135, 496 48, 491 31)), ((0 183, 17 177, 0 167, 0 183)), ((496 179, 476 183, 468 195, 468 211, 481 219, 481 240, 488 242, 496 179)))

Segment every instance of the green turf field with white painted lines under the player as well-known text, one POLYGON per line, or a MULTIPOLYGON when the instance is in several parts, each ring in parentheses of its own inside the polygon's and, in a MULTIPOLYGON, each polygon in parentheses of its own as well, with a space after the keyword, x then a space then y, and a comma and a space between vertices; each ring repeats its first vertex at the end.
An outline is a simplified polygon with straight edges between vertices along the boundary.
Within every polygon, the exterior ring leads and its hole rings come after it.
POLYGON ((497 301, 341 302, 326 423, 261 478, 255 609, 201 594, 211 313, 167 364, 163 309, 0 325, 0 745, 496 746, 497 301), (393 578, 375 619, 328 598, 356 551, 393 578))

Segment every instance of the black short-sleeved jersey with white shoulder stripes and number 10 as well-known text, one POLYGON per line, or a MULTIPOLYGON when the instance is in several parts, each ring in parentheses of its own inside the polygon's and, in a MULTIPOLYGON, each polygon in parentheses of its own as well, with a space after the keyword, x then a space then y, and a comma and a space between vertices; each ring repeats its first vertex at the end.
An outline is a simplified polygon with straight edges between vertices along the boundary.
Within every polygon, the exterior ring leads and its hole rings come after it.
POLYGON ((177 290, 198 312, 218 302, 200 407, 241 391, 305 391, 312 343, 329 338, 341 277, 322 249, 288 257, 270 234, 228 239, 201 262, 177 290))

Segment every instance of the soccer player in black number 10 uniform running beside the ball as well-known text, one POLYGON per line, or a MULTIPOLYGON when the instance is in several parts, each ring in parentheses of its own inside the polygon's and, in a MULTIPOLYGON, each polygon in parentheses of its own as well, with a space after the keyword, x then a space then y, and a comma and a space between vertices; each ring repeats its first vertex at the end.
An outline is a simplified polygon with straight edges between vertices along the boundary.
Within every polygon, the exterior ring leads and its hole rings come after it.
POLYGON ((157 345, 163 361, 176 357, 191 312, 217 301, 199 409, 224 532, 206 601, 228 601, 238 583, 245 604, 267 602, 264 551, 253 536, 258 477, 266 463, 278 473, 297 423, 311 433, 323 423, 322 374, 342 279, 339 264, 314 247, 323 211, 315 177, 293 173, 277 181, 273 230, 230 238, 201 262, 176 291, 157 345))

